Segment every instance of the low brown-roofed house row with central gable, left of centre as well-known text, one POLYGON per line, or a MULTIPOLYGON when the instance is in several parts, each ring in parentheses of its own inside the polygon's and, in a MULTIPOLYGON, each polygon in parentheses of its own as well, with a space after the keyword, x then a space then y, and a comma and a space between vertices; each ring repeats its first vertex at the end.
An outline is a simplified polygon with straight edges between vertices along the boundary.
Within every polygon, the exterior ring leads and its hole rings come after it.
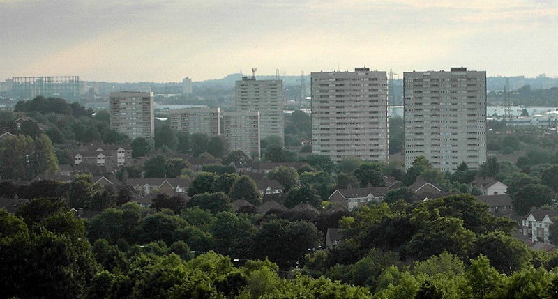
POLYGON ((126 185, 143 196, 153 191, 173 196, 186 193, 190 181, 186 178, 128 178, 126 185))

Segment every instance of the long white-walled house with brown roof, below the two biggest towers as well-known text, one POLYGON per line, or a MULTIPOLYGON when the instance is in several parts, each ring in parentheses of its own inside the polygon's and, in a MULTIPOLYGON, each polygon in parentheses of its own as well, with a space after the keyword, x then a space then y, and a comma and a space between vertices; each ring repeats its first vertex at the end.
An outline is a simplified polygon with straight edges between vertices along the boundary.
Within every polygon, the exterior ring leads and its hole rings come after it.
POLYGON ((329 196, 329 201, 347 210, 353 210, 372 201, 383 201, 386 192, 388 192, 387 187, 338 189, 329 196))

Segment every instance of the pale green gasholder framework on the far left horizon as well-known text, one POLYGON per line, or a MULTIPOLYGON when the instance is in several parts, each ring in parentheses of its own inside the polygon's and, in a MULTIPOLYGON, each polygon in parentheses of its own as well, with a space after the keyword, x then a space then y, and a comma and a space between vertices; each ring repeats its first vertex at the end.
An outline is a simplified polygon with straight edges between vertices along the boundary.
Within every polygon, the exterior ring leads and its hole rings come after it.
POLYGON ((80 96, 79 76, 13 77, 10 83, 14 98, 31 99, 43 95, 73 100, 80 96))

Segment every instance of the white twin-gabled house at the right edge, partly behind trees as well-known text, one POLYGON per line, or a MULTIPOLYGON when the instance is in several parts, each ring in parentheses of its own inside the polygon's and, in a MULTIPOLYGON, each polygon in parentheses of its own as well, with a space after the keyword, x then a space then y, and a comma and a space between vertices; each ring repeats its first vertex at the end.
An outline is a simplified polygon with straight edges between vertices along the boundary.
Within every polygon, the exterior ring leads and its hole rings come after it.
POLYGON ((557 210, 535 209, 527 213, 522 219, 522 233, 533 242, 549 243, 548 227, 552 218, 558 216, 557 210))

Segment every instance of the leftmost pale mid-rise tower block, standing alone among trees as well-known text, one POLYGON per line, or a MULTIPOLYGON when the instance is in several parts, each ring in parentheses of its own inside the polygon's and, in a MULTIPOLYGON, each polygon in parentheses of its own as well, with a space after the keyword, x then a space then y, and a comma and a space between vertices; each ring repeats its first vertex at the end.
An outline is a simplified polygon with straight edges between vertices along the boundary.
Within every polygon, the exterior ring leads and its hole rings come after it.
POLYGON ((152 141, 153 92, 120 91, 110 93, 110 128, 131 139, 145 137, 152 141))

